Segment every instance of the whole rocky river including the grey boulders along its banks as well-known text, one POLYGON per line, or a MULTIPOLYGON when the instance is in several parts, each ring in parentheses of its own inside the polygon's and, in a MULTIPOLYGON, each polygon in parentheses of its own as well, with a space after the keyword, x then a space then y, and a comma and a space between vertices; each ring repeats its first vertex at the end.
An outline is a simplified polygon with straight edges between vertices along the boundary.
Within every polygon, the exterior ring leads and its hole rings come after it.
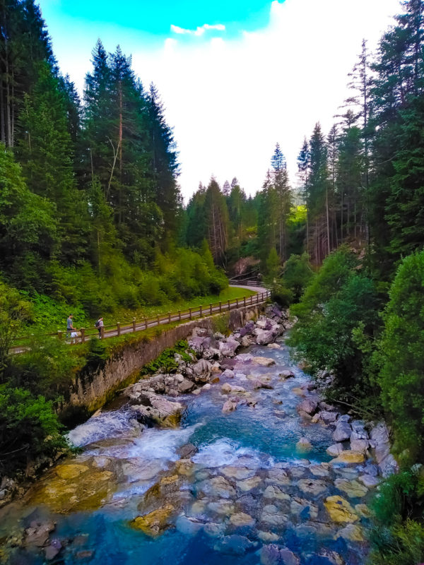
POLYGON ((73 430, 83 453, 0 514, 8 559, 363 564, 367 501, 396 469, 388 431, 322 400, 288 326, 269 307, 228 337, 199 328, 189 362, 73 430))

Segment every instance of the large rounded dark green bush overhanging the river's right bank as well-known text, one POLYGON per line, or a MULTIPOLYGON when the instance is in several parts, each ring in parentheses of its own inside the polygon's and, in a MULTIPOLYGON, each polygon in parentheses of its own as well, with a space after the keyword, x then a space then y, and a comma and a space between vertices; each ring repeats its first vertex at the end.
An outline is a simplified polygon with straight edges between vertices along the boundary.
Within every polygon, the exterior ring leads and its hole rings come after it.
POLYGON ((364 367, 369 354, 358 346, 355 332, 360 328, 365 335, 372 335, 378 323, 378 304, 374 284, 354 266, 346 249, 326 258, 300 303, 292 307, 299 321, 289 343, 296 348, 295 357, 305 359, 312 374, 332 371, 334 388, 366 398, 370 386, 364 367))

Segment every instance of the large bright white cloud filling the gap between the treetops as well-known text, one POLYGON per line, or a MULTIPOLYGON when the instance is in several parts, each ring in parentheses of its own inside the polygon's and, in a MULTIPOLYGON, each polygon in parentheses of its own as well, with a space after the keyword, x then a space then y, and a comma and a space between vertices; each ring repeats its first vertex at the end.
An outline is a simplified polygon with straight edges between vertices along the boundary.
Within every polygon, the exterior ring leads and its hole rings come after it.
POLYGON ((158 86, 175 126, 184 196, 212 172, 254 194, 277 141, 294 181, 303 137, 316 121, 328 131, 348 95, 363 37, 374 48, 399 9, 398 0, 274 0, 257 32, 133 51, 134 70, 158 86))

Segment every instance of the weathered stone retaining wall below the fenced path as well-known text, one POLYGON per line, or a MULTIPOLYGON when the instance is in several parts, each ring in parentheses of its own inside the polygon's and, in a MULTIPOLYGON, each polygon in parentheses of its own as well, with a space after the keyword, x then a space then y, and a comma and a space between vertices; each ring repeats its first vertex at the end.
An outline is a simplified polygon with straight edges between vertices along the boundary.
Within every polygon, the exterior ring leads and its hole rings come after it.
POLYGON ((119 352, 107 359, 103 367, 78 374, 69 390, 64 392, 64 411, 75 408, 88 412, 98 410, 119 388, 131 383, 131 379, 135 381, 144 365, 156 359, 167 347, 173 347, 179 340, 187 339, 194 328, 213 329, 217 319, 222 318, 228 321, 228 329, 232 331, 257 318, 262 309, 264 304, 258 304, 182 323, 165 330, 148 343, 143 341, 141 335, 136 343, 123 345, 119 352))

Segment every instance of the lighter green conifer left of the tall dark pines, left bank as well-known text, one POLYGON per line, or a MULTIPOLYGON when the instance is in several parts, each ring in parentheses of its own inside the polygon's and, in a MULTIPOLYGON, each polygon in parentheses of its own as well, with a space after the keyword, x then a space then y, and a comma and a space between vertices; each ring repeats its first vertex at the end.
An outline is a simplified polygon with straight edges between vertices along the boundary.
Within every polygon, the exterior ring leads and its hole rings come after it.
POLYGON ((61 257, 76 263, 87 253, 88 211, 73 174, 64 97, 47 64, 40 66, 33 93, 25 95, 20 126, 26 135, 19 141, 16 155, 28 187, 57 206, 61 257))

